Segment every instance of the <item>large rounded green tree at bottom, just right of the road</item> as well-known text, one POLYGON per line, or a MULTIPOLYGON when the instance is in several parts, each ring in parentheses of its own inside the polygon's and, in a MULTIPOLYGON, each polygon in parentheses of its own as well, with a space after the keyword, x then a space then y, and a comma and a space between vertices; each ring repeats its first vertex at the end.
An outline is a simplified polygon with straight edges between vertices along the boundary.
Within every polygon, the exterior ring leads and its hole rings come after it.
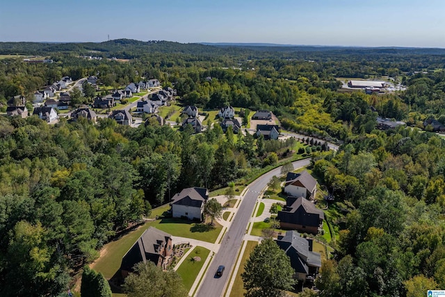
POLYGON ((264 239, 254 248, 241 275, 247 296, 284 296, 292 289, 295 273, 291 260, 273 239, 264 239))

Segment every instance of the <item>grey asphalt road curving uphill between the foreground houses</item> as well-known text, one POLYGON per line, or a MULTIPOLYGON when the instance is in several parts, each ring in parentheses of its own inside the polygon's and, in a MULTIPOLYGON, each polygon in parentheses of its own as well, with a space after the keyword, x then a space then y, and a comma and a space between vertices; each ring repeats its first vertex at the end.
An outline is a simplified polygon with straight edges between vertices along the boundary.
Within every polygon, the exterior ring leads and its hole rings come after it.
MULTIPOLYGON (((309 162, 309 159, 296 161, 293 162, 293 167, 300 168, 308 166, 309 162)), ((250 217, 252 216, 255 202, 257 202, 259 194, 266 187, 270 179, 274 175, 280 175, 280 170, 281 167, 275 168, 274 170, 261 175, 261 177, 247 187, 232 226, 227 230, 223 241, 221 242, 220 250, 211 262, 209 269, 204 276, 202 286, 199 291, 197 291, 196 296, 223 296, 230 273, 234 266, 236 255, 238 255, 238 250, 241 248, 243 237, 247 230, 250 217), (225 266, 225 272, 220 278, 215 278, 214 275, 216 269, 220 265, 225 266)))

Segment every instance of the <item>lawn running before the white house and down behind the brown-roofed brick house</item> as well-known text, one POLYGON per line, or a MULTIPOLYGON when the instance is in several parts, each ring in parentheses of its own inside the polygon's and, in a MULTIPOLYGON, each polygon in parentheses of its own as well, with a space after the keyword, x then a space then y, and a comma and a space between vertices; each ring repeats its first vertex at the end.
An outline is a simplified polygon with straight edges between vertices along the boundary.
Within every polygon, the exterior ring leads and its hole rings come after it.
MULTIPOLYGON (((156 215, 161 216, 161 214, 169 208, 168 205, 164 205, 158 209, 153 209, 151 217, 154 218, 156 215)), ((99 259, 90 266, 104 274, 107 279, 113 277, 119 270, 122 257, 150 226, 163 230, 173 236, 184 236, 202 241, 215 242, 222 226, 216 222, 214 222, 214 224, 214 227, 210 227, 209 225, 189 223, 188 220, 177 218, 161 218, 159 220, 146 222, 144 225, 138 227, 138 229, 122 235, 119 239, 106 243, 101 250, 99 259)))

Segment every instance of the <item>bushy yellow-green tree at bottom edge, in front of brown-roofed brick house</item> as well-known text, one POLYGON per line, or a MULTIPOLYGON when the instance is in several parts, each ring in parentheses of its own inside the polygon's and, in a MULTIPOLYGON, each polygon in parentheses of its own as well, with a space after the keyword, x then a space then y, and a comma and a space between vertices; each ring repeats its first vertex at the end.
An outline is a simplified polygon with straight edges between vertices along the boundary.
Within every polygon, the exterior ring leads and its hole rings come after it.
POLYGON ((140 262, 134 266, 134 273, 125 278, 124 291, 129 297, 186 297, 181 277, 176 271, 162 271, 153 262, 140 262))

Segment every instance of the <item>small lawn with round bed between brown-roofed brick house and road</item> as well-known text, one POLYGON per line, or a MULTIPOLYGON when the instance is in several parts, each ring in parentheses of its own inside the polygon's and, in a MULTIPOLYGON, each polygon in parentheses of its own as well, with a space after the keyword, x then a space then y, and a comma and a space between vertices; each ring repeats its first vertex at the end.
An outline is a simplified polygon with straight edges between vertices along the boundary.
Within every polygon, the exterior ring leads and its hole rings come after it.
POLYGON ((184 286, 187 290, 190 290, 193 286, 193 282, 197 277, 197 274, 200 273, 204 262, 209 256, 210 250, 207 248, 202 248, 201 246, 197 246, 192 250, 192 252, 188 255, 187 259, 182 262, 181 266, 179 266, 177 273, 181 275, 182 281, 184 282, 184 286), (200 261, 194 261, 193 257, 200 257, 200 261))

